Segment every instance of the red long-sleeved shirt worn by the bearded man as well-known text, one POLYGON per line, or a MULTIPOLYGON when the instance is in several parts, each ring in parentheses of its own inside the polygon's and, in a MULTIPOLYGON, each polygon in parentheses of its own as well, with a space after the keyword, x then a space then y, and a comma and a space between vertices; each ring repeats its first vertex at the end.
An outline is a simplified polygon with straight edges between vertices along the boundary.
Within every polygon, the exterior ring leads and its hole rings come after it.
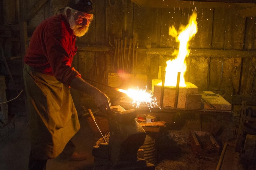
POLYGON ((81 77, 71 66, 77 52, 75 39, 65 17, 52 16, 35 29, 24 62, 38 72, 53 75, 69 86, 73 78, 81 77))

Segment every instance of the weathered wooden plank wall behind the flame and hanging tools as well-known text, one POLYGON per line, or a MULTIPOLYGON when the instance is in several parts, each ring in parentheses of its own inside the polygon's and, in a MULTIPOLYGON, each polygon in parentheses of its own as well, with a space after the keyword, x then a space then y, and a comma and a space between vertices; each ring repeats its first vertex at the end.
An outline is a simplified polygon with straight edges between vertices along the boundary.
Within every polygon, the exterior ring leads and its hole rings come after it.
MULTIPOLYGON (((67 1, 47 1, 28 21, 28 26, 36 27, 42 20, 56 14, 67 1)), ((36 2, 23 1, 21 16, 36 2)), ((191 53, 186 59, 186 81, 195 84, 201 91, 219 93, 229 102, 239 103, 245 98, 255 101, 256 17, 240 16, 237 11, 242 5, 230 7, 227 3, 209 5, 208 2, 208 5, 201 7, 179 5, 164 8, 143 7, 131 0, 94 0, 94 3, 94 20, 89 32, 77 38, 79 48, 73 62, 84 78, 107 84, 108 72, 123 72, 123 64, 124 72, 134 73, 132 54, 136 57, 138 43, 136 74, 147 75, 147 85, 151 87, 151 79, 158 78, 158 67, 162 66, 164 70, 165 62, 173 58, 171 54, 178 46, 175 39, 169 36, 168 27, 175 25, 178 29, 181 24, 186 25, 189 15, 196 10, 198 32, 191 40, 191 53), (132 48, 126 70, 130 39, 132 48), (123 55, 120 52, 121 43, 122 50, 126 44, 123 55), (119 51, 119 65, 115 51, 116 54, 119 51), (123 63, 121 57, 124 58, 123 63)))

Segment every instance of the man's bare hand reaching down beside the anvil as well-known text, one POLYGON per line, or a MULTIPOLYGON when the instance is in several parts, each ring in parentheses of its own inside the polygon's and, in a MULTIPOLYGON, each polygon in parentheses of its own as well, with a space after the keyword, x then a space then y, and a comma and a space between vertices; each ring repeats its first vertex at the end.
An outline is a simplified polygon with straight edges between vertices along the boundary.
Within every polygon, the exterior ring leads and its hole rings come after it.
POLYGON ((94 101, 98 109, 105 114, 110 114, 111 112, 111 103, 110 99, 103 92, 98 91, 94 96, 94 101))

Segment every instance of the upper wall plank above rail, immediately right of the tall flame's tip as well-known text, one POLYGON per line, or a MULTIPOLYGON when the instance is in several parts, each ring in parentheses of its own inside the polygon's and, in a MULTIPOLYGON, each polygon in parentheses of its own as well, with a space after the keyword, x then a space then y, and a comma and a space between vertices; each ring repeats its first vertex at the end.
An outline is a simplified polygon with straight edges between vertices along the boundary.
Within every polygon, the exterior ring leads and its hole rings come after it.
POLYGON ((213 9, 197 8, 197 23, 198 29, 195 37, 191 40, 191 48, 211 48, 213 9))

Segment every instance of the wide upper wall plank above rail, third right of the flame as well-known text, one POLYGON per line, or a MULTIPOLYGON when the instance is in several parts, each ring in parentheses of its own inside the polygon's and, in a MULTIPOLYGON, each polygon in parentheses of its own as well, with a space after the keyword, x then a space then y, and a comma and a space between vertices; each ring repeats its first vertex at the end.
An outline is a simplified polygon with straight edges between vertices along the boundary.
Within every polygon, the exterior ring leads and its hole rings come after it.
POLYGON ((224 18, 226 22, 224 49, 243 49, 245 18, 237 15, 237 10, 237 8, 229 9, 224 18))

